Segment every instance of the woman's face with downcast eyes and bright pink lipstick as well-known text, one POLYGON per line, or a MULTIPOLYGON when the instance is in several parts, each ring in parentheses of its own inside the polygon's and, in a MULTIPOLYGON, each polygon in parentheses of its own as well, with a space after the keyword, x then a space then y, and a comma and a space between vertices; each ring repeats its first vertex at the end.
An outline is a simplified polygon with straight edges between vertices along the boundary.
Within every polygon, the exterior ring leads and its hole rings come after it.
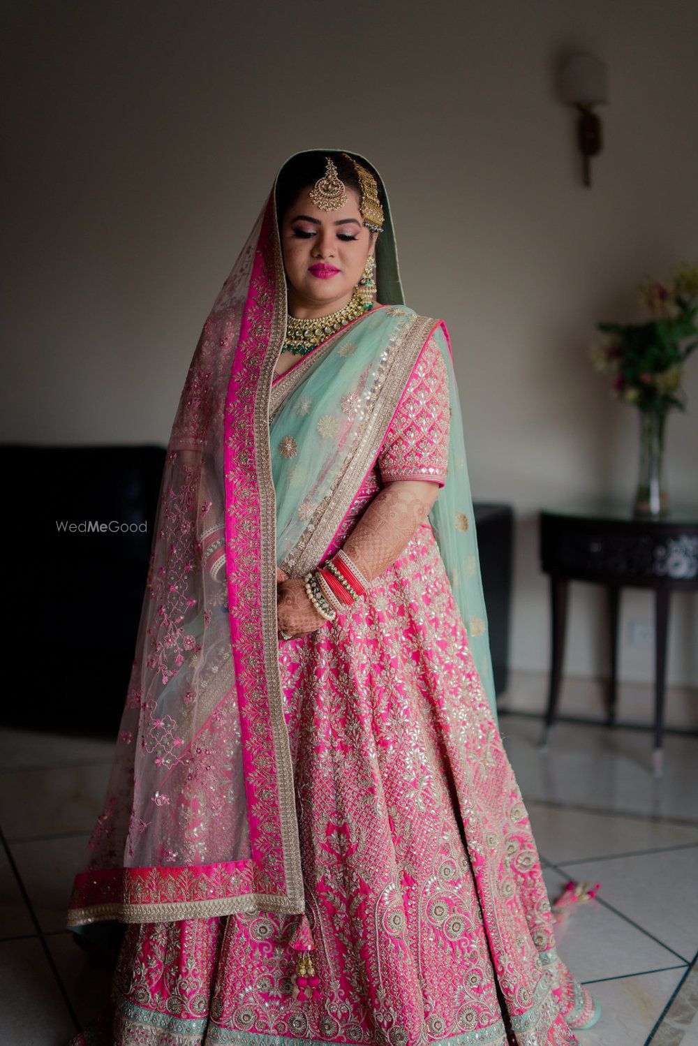
POLYGON ((321 210, 304 189, 281 225, 283 264, 288 277, 288 311, 336 312, 349 301, 375 243, 364 225, 358 195, 347 189, 347 202, 336 210, 321 210))

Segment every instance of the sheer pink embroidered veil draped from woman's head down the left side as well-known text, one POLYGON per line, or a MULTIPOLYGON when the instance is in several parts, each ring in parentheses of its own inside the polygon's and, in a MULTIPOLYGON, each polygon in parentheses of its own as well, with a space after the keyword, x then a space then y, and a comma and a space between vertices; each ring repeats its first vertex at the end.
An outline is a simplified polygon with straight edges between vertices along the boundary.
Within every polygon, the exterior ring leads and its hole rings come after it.
MULTIPOLYGON (((112 775, 68 926, 304 910, 269 439, 286 322, 282 170, 204 324, 180 399, 112 775), (222 553, 225 570, 209 569, 222 553)), ((390 207, 374 174, 386 214, 378 299, 399 304, 390 207)), ((412 339, 415 358, 422 342, 412 339)), ((403 385, 412 363, 403 361, 403 385)), ((376 453, 391 411, 382 416, 376 453)))

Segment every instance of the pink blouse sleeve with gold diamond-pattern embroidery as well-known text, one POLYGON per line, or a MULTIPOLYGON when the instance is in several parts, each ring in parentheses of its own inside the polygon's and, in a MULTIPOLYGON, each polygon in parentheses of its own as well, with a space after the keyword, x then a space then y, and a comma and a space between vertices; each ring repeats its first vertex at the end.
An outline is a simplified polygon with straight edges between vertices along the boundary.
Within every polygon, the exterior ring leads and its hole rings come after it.
POLYGON ((435 339, 429 338, 378 454, 383 483, 431 479, 444 486, 449 420, 446 365, 435 339))

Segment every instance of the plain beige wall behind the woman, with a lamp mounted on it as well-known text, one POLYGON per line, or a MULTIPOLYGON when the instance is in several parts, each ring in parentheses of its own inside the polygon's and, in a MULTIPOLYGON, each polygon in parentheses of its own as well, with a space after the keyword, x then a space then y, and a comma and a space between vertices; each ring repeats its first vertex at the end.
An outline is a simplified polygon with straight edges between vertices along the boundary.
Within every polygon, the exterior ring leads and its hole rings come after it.
MULTIPOLYGON (((542 504, 630 499, 635 411, 586 359, 632 288, 698 259, 694 0, 426 4, 6 3, 9 308, 2 438, 164 442, 208 309, 299 149, 386 178, 408 303, 450 328, 475 500, 515 506, 513 664, 543 669, 542 504), (608 63, 606 149, 580 185, 554 69, 608 63)), ((697 498, 698 354, 668 482, 697 498)), ((603 604, 574 587, 567 668, 603 659, 603 604)), ((698 679, 698 607, 673 607, 670 681, 698 679)), ((648 679, 628 644, 622 674, 648 679)), ((697 703, 698 704, 698 703, 697 703)))

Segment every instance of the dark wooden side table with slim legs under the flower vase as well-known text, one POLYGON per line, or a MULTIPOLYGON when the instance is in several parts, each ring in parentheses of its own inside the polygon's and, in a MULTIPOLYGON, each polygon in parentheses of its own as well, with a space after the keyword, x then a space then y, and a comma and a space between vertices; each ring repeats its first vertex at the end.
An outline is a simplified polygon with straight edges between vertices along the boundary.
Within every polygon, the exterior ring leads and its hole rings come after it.
MULTIPOLYGON (((555 722, 564 657, 571 581, 605 585, 608 593, 611 675, 608 724, 618 703, 618 626, 624 586, 654 590, 654 773, 662 772, 662 733, 669 598, 698 591, 698 505, 680 506, 659 520, 642 520, 613 502, 588 502, 540 510, 540 563, 551 579, 552 664, 546 747, 555 722)), ((698 637, 697 637, 698 639, 698 637)))

